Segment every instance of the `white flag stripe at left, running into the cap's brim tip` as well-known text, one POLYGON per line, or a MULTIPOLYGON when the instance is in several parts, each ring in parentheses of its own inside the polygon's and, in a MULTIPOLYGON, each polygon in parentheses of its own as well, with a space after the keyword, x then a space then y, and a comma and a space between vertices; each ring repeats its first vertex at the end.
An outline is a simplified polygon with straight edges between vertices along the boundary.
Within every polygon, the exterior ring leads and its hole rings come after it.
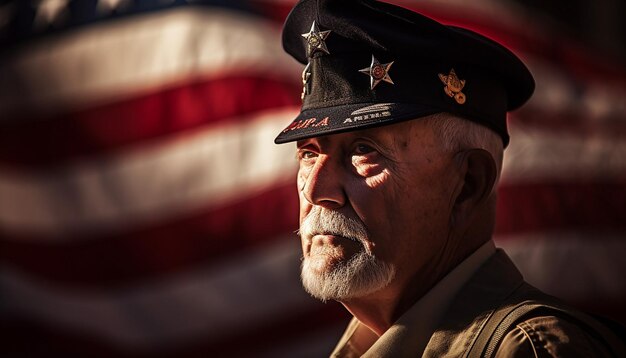
POLYGON ((295 177, 294 148, 273 139, 295 114, 256 113, 42 173, 0 168, 0 227, 50 238, 111 233, 287 183, 295 177))

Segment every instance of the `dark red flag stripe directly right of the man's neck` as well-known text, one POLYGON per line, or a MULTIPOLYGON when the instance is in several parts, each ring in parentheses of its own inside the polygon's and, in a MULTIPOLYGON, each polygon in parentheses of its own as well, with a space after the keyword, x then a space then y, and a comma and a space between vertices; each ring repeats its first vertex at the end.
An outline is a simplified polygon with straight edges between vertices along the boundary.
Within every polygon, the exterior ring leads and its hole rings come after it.
POLYGON ((541 182, 498 190, 496 235, 626 229, 626 178, 610 182, 541 182))

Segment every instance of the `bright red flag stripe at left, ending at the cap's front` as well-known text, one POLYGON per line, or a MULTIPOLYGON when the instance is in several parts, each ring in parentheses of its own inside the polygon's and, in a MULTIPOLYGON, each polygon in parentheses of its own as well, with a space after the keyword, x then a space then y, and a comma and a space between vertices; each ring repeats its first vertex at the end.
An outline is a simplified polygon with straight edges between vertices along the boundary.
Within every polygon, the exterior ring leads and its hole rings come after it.
POLYGON ((230 76, 50 118, 0 121, 0 163, 59 165, 265 109, 300 105, 291 83, 230 76))

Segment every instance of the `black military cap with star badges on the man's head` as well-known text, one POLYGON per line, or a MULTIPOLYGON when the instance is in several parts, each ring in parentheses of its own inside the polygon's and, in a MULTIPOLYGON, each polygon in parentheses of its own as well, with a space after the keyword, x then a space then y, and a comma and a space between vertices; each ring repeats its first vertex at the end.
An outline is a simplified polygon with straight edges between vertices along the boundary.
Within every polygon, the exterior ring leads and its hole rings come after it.
POLYGON ((371 0, 302 0, 283 47, 302 64, 302 110, 276 143, 449 112, 509 135, 506 112, 535 87, 498 43, 371 0))

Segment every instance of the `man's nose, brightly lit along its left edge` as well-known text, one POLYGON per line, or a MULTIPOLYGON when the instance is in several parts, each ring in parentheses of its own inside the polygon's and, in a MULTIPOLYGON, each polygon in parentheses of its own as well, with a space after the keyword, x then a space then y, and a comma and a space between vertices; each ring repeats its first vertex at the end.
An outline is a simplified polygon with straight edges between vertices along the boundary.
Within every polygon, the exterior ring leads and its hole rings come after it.
POLYGON ((304 178, 301 188, 304 198, 313 205, 337 209, 346 202, 340 165, 332 158, 318 157, 313 168, 304 178))

